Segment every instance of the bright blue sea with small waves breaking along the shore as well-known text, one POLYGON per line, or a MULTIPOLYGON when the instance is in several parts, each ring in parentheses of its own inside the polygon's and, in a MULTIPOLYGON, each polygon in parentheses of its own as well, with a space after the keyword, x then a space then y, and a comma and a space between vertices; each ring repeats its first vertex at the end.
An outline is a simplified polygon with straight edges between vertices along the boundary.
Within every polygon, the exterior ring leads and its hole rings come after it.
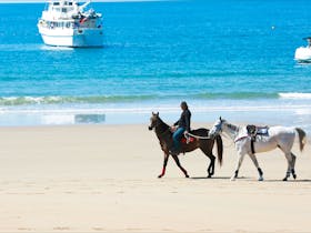
POLYGON ((311 36, 308 0, 92 3, 102 49, 43 44, 44 3, 0 4, 0 125, 167 121, 188 101, 193 121, 287 124, 311 132, 311 65, 295 48, 311 36))

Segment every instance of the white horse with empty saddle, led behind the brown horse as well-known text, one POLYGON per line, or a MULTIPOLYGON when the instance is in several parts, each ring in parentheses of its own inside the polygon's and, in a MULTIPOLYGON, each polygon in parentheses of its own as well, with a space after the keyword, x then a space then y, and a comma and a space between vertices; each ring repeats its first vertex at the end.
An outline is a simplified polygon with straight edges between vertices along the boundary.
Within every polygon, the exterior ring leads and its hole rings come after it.
POLYGON ((303 150, 307 142, 305 132, 303 130, 299 128, 271 126, 268 129, 265 135, 257 135, 252 144, 252 139, 248 133, 247 126, 237 126, 220 118, 210 130, 209 136, 213 138, 221 132, 225 133, 233 140, 238 151, 235 172, 232 175, 231 181, 234 181, 238 178, 239 169, 245 154, 249 154, 253 164, 258 169, 259 181, 263 181, 263 173, 258 164, 254 153, 271 151, 275 148, 281 149, 288 160, 288 170, 283 181, 287 181, 291 173, 293 179, 297 178, 294 172, 295 155, 291 150, 295 132, 299 136, 300 151, 303 150))

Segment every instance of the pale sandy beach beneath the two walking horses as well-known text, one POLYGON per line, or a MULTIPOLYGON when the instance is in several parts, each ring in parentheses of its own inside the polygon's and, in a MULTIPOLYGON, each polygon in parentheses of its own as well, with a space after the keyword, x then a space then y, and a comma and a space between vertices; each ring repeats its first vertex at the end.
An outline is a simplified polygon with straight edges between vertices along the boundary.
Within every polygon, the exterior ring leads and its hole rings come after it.
POLYGON ((263 182, 249 158, 231 182, 228 139, 214 179, 199 150, 180 155, 190 179, 172 160, 158 179, 163 154, 147 126, 1 128, 0 232, 310 232, 310 146, 297 181, 281 181, 275 150, 258 155, 263 182))

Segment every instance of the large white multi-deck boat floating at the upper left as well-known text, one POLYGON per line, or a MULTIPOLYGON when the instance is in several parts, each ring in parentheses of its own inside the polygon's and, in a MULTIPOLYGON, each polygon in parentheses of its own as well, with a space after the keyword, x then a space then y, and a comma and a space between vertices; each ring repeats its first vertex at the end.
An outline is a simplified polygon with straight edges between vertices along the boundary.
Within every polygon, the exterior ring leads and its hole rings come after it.
POLYGON ((86 10, 74 0, 50 0, 39 19, 39 32, 48 45, 102 47, 102 16, 93 9, 86 10))

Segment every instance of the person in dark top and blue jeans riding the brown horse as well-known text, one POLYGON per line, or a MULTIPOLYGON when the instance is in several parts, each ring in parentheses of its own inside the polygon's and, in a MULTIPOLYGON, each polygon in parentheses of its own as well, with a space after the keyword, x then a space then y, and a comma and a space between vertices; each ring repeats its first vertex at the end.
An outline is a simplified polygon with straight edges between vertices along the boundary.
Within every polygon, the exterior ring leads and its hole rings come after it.
POLYGON ((173 126, 171 126, 171 131, 173 132, 173 145, 171 153, 174 155, 180 153, 180 140, 182 134, 190 132, 191 112, 188 109, 187 102, 182 101, 180 103, 180 108, 182 110, 180 119, 173 124, 173 126))

